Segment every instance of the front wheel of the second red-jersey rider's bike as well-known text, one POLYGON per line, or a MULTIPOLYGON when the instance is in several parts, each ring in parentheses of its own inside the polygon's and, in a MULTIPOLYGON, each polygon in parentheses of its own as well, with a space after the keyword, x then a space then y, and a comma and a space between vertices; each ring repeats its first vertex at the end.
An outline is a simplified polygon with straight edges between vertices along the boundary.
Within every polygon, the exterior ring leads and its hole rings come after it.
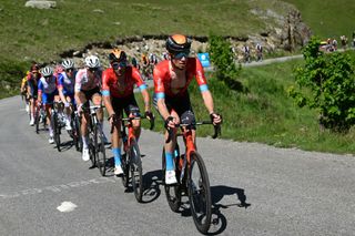
POLYGON ((131 171, 131 177, 132 177, 132 188, 134 192, 135 199, 139 203, 142 203, 142 196, 143 196, 143 168, 142 168, 142 160, 141 160, 141 152, 140 147, 135 141, 135 138, 131 140, 131 146, 130 146, 130 171, 131 171))

